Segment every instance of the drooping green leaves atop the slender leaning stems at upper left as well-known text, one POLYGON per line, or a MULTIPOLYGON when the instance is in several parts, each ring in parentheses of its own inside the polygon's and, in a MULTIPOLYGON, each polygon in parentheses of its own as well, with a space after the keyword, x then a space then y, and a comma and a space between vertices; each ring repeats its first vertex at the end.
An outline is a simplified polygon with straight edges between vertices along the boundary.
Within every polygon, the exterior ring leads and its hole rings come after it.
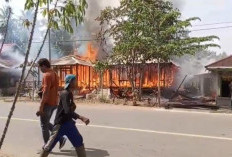
MULTIPOLYGON (((84 19, 85 9, 88 7, 86 0, 79 0, 78 5, 74 0, 56 0, 56 4, 59 1, 61 6, 56 6, 53 9, 47 9, 47 0, 40 0, 40 8, 42 9, 42 15, 49 16, 49 27, 54 29, 64 28, 69 33, 73 33, 73 27, 71 21, 74 20, 76 26, 84 19)), ((49 4, 52 4, 53 0, 49 0, 49 4)), ((30 10, 35 6, 33 0, 26 0, 25 10, 30 10)))

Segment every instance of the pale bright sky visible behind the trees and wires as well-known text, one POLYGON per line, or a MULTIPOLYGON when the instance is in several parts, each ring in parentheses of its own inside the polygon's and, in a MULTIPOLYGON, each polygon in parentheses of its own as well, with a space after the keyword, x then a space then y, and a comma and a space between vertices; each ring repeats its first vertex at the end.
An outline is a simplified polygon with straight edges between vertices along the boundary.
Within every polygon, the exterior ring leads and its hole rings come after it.
MULTIPOLYGON (((0 6, 2 6, 5 0, 0 0, 0 6)), ((108 2, 110 0, 102 0, 108 2)), ((114 2, 116 0, 113 0, 114 2)), ((232 55, 232 27, 224 29, 213 30, 201 30, 215 27, 232 26, 232 0, 173 0, 175 6, 177 6, 181 12, 183 18, 199 17, 201 21, 193 23, 191 36, 207 36, 216 35, 220 38, 219 41, 215 41, 221 46, 219 48, 213 48, 212 50, 217 53, 226 52, 228 55, 232 55), (231 23, 224 23, 231 22, 231 23), (215 25, 205 25, 212 23, 223 23, 215 25), (204 26, 199 26, 204 25, 204 26)), ((10 5, 16 15, 23 10, 25 0, 11 0, 10 5)), ((107 3, 108 4, 108 3, 107 3)), ((110 4, 110 3, 109 3, 110 4)))

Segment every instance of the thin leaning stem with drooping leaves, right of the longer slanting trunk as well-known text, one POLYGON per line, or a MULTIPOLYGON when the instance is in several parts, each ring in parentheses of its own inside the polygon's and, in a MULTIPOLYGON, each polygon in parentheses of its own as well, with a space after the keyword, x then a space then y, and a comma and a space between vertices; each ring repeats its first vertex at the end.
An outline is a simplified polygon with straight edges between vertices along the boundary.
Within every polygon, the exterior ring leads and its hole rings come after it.
MULTIPOLYGON (((43 42, 39 48, 39 51, 36 55, 36 58, 33 60, 31 66, 26 74, 26 77, 24 78, 24 82, 26 81, 32 68, 35 65, 35 62, 37 61, 37 59, 39 58, 39 56, 42 52, 43 46, 45 44, 45 40, 46 40, 48 32, 49 32, 49 29, 53 28, 54 31, 60 31, 60 28, 62 28, 62 29, 64 29, 63 31, 65 31, 66 33, 73 33, 72 21, 74 21, 74 23, 77 26, 79 23, 81 23, 84 20, 85 9, 88 7, 88 4, 86 3, 85 0, 79 0, 79 5, 75 5, 74 1, 72 1, 72 0, 69 0, 68 2, 64 1, 63 6, 60 7, 60 9, 57 9, 58 2, 60 2, 60 1, 56 0, 54 8, 49 10, 49 12, 47 9, 43 10, 43 13, 42 13, 43 16, 46 16, 47 14, 49 14, 47 30, 46 30, 46 33, 43 37, 43 42)), ((44 3, 46 3, 46 2, 44 2, 44 3)))

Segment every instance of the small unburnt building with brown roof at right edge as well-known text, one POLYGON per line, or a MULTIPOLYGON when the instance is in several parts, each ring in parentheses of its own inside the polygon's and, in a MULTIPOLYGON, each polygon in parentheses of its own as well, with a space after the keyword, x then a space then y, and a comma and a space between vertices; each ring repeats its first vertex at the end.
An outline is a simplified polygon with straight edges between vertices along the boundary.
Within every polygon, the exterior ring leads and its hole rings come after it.
POLYGON ((229 84, 232 82, 232 56, 216 61, 205 67, 210 71, 209 86, 213 87, 216 94, 217 105, 231 106, 231 91, 229 84))

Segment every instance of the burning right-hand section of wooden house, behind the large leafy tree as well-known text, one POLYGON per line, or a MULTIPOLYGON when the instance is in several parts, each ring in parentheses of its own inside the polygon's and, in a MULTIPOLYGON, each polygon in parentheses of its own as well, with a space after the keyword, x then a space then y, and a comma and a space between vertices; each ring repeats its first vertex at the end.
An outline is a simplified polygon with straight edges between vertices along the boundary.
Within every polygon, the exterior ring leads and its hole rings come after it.
MULTIPOLYGON (((107 80, 107 87, 113 88, 130 88, 128 73, 131 68, 125 65, 112 65, 104 74, 104 80, 107 80), (110 78, 111 77, 111 78, 110 78)), ((172 62, 160 63, 160 86, 171 87, 174 83, 175 75, 178 67, 172 62)), ((135 65, 135 82, 136 87, 139 87, 140 82, 142 88, 156 88, 158 86, 158 63, 146 63, 135 65), (141 70, 141 66, 143 69, 141 70), (142 80, 141 80, 142 79, 142 80)))

